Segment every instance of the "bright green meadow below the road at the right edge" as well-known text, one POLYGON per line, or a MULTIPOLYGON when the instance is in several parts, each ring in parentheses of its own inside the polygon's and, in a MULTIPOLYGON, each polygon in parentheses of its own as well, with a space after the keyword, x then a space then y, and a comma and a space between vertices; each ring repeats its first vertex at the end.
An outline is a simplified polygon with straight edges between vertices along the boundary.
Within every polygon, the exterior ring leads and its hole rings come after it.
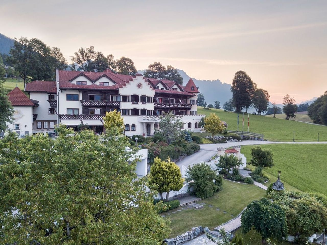
MULTIPOLYGON (((265 170, 270 176, 274 176, 270 183, 277 179, 280 170, 286 190, 297 188, 305 192, 320 192, 327 195, 327 145, 274 144, 261 147, 271 148, 274 154, 275 166, 265 170)), ((251 148, 252 146, 242 146, 241 149, 248 162, 251 159, 251 148)))

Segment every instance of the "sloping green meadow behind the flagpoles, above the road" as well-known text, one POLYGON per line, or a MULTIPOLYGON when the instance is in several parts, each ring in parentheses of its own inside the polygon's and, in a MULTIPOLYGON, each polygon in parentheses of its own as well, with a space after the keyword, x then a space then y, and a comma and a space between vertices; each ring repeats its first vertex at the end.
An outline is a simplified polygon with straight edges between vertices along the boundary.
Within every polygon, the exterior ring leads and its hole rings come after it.
MULTIPOLYGON (((237 129, 237 113, 198 107, 198 114, 210 115, 210 112, 228 123, 229 130, 237 129)), ((242 114, 239 115, 239 130, 242 130, 242 114)), ((244 130, 247 131, 247 115, 244 115, 244 130)), ((264 138, 270 141, 292 141, 293 131, 297 142, 317 141, 318 133, 319 140, 327 141, 327 127, 250 114, 250 132, 264 134, 264 138)))

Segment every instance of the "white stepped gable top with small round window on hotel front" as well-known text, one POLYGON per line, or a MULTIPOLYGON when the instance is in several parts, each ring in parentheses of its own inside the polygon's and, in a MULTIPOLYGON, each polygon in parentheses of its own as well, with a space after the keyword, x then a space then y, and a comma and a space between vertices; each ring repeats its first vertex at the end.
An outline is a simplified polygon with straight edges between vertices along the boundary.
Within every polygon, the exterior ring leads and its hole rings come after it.
POLYGON ((119 88, 119 94, 127 96, 136 94, 139 96, 154 97, 154 90, 142 76, 136 76, 136 78, 133 78, 133 81, 126 83, 126 86, 119 88))

